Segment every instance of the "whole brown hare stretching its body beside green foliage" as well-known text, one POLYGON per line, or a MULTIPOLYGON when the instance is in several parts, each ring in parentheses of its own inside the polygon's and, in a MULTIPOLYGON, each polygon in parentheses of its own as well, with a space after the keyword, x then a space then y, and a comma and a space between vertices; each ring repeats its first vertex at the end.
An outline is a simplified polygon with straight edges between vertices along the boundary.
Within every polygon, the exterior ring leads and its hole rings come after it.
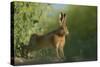
POLYGON ((57 58, 64 57, 64 45, 65 45, 65 36, 69 34, 69 31, 66 26, 66 14, 59 14, 59 28, 45 35, 32 34, 29 40, 29 44, 24 47, 26 53, 41 49, 52 47, 56 51, 57 58))

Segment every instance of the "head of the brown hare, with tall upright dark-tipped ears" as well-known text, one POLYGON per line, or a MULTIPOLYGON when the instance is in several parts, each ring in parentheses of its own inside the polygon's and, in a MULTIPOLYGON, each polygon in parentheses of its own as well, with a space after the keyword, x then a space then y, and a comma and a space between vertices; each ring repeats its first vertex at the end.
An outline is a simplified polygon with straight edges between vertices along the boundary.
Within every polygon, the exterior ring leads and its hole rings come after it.
POLYGON ((67 19, 66 14, 61 12, 60 15, 59 15, 59 25, 60 25, 60 27, 63 28, 65 34, 68 35, 69 31, 67 29, 66 19, 67 19))

